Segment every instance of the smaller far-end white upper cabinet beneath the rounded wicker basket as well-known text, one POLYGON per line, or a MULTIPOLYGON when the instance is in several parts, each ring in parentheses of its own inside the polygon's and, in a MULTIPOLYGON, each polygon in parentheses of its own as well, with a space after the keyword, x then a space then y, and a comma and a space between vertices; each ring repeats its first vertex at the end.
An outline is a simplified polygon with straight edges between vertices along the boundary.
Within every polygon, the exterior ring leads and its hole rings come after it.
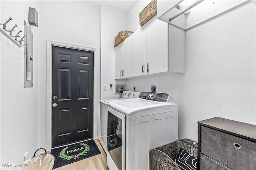
POLYGON ((115 47, 115 78, 132 76, 132 35, 115 47))

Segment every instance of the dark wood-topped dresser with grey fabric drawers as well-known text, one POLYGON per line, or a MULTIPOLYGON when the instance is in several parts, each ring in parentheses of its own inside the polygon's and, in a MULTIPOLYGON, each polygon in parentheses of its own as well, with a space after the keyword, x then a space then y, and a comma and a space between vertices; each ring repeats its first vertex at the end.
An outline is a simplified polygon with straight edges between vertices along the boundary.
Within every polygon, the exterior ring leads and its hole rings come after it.
POLYGON ((256 125, 221 117, 198 121, 198 170, 256 170, 256 125))

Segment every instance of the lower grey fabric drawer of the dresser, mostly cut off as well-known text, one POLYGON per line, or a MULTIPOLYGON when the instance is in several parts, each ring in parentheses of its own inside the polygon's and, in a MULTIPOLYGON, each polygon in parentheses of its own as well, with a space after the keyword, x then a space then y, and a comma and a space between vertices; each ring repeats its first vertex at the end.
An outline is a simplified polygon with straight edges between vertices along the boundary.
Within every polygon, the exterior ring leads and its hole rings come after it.
POLYGON ((218 162, 215 162, 214 160, 211 160, 204 156, 203 154, 200 154, 201 164, 200 169, 201 170, 230 170, 218 162))

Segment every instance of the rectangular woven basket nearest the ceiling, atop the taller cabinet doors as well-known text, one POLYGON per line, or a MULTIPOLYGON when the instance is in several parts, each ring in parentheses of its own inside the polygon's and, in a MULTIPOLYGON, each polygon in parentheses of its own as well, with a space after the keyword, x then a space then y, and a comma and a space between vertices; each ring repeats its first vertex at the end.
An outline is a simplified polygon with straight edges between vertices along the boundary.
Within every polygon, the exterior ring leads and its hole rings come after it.
POLYGON ((140 26, 144 25, 151 18, 156 15, 156 0, 152 0, 141 12, 140 12, 140 26))

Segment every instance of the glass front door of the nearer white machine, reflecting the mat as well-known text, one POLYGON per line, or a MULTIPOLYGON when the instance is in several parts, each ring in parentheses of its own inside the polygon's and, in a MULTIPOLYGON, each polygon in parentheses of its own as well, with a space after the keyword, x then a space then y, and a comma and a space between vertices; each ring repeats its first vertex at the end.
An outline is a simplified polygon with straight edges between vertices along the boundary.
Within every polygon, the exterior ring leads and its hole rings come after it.
POLYGON ((125 169, 125 120, 124 114, 108 107, 107 162, 109 169, 125 169))

